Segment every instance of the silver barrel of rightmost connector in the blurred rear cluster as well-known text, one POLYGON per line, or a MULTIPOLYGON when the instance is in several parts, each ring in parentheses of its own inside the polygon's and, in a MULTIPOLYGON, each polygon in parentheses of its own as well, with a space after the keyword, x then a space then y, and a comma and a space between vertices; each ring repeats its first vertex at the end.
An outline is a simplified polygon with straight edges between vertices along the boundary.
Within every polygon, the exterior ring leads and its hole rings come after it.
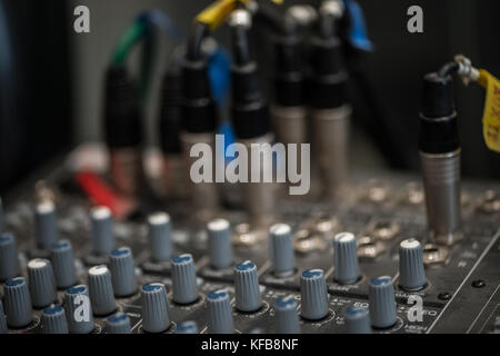
POLYGON ((323 192, 337 197, 349 177, 349 118, 352 109, 311 109, 312 151, 323 192))

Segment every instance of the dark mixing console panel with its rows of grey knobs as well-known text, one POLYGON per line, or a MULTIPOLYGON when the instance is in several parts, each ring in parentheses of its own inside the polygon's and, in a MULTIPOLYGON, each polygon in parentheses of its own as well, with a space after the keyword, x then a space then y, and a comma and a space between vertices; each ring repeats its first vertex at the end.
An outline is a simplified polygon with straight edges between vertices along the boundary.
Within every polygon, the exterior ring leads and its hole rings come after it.
POLYGON ((200 219, 182 199, 144 199, 132 217, 111 221, 107 208, 91 209, 66 168, 37 179, 54 205, 37 202, 32 182, 3 200, 11 234, 0 244, 2 278, 16 269, 12 243, 20 266, 13 275, 27 278, 1 287, 9 333, 112 333, 123 320, 132 333, 363 332, 367 306, 374 333, 499 332, 494 184, 463 184, 462 236, 443 246, 429 237, 416 177, 359 172, 341 199, 282 198, 270 229, 253 227, 239 209, 200 219), (58 244, 44 245, 57 236, 58 244), (412 265, 418 246, 424 269, 412 265), (58 320, 61 310, 74 312, 72 294, 86 290, 90 322, 58 320), (421 320, 410 317, 414 295, 423 301, 421 320), (384 298, 390 305, 393 296, 391 315, 384 298))

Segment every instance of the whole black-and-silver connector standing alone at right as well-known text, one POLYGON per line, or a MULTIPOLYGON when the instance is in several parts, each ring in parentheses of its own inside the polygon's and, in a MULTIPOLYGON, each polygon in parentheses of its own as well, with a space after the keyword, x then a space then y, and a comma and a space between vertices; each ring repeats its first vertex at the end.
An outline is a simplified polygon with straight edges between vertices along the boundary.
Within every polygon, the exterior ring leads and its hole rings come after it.
POLYGON ((461 189, 460 142, 449 75, 424 77, 419 150, 431 239, 452 245, 461 237, 461 189))

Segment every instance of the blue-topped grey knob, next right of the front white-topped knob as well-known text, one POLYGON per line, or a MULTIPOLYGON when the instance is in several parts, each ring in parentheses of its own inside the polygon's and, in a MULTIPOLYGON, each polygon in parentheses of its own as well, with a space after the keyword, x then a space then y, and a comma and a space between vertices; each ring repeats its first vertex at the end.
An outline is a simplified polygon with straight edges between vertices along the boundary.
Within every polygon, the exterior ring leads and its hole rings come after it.
POLYGON ((142 286, 142 328, 147 333, 163 333, 170 326, 167 289, 160 283, 142 286))

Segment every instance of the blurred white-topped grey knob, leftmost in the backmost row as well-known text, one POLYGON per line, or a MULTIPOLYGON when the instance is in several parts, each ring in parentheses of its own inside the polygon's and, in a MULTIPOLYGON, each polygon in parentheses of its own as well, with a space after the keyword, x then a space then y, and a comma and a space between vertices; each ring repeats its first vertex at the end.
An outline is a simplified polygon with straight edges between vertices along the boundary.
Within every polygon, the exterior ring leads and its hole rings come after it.
POLYGON ((50 248, 59 239, 56 206, 52 201, 46 200, 34 208, 34 236, 37 246, 50 248))

